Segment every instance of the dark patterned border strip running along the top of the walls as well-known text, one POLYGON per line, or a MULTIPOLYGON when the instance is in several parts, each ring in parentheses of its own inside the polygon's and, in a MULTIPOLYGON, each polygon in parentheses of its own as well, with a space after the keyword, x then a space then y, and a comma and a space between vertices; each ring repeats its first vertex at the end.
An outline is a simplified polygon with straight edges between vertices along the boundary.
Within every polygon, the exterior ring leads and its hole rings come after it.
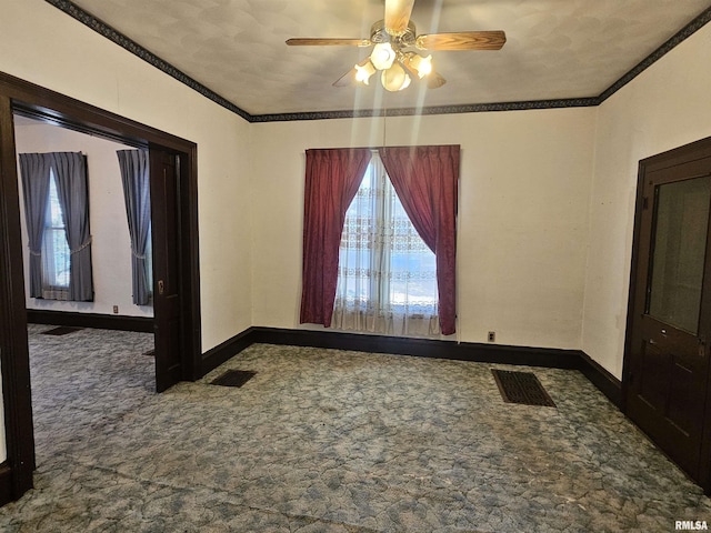
POLYGON ((70 17, 77 19, 84 26, 88 26, 97 33, 106 37, 110 41, 119 44, 121 48, 128 50, 134 56, 141 58, 143 61, 150 63, 168 76, 184 83, 192 90, 199 92, 203 97, 212 100, 213 102, 222 105, 223 108, 239 114, 248 122, 284 122, 291 120, 326 120, 326 119, 354 119, 363 117, 409 117, 415 114, 453 114, 453 113, 482 113, 492 111, 522 111, 529 109, 555 109, 555 108, 581 108, 581 107, 594 107, 600 105, 608 98, 614 94, 617 91, 627 86, 630 81, 641 74, 650 66, 661 59, 664 54, 673 50, 682 41, 694 34, 705 24, 711 22, 711 7, 703 11, 699 17, 693 19, 679 32, 677 32, 671 39, 664 42, 661 47, 650 53, 647 58, 640 61, 634 68, 632 68, 622 78, 615 81, 612 86, 605 89, 598 97, 589 98, 573 98, 573 99, 560 99, 560 100, 534 100, 524 102, 497 102, 497 103, 469 103, 457 105, 434 105, 425 108, 400 108, 400 109, 367 109, 367 110, 344 110, 344 111, 312 111, 302 113, 274 113, 274 114, 250 114, 243 109, 239 108, 234 103, 222 98, 211 89, 199 81, 190 78, 184 72, 178 70, 176 67, 167 61, 163 61, 159 57, 154 56, 136 41, 129 39, 123 33, 114 30, 106 22, 94 18, 83 9, 79 8, 70 0, 44 0, 51 3, 56 8, 60 9, 70 17))

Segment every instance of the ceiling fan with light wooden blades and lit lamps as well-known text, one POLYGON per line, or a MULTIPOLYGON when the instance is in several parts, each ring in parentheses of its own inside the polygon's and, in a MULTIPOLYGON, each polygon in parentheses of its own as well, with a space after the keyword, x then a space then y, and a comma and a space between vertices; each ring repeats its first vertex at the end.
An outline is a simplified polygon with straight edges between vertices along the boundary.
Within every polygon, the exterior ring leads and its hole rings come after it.
POLYGON ((407 89, 412 79, 425 79, 430 89, 442 87, 447 80, 432 69, 432 56, 422 51, 499 50, 507 42, 503 31, 461 31, 455 33, 417 34, 410 20, 414 0, 385 0, 385 17, 375 22, 369 39, 296 38, 290 47, 373 47, 371 54, 338 79, 333 86, 349 86, 353 81, 369 84, 371 76, 380 72, 380 81, 388 91, 407 89))

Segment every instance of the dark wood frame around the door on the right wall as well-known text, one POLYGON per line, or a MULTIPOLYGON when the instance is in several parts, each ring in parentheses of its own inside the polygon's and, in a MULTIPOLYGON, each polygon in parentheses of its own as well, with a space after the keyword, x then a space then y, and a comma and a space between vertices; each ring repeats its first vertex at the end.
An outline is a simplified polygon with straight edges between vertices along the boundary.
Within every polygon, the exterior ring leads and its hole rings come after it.
MULTIPOLYGON (((711 157, 711 137, 691 142, 657 155, 642 159, 639 162, 637 175, 637 200, 634 205, 634 233, 632 237, 632 261, 630 265, 630 288, 628 294, 627 330, 624 336, 624 358, 622 364, 622 401, 621 410, 628 414, 628 394, 632 372, 632 324, 634 321, 634 299, 638 289, 637 272, 640 261, 642 213, 645 209, 653 209, 653 199, 644 197, 644 180, 648 172, 677 167, 699 159, 711 157)), ((704 291, 711 286, 711 258, 707 258, 704 269, 704 291)), ((709 365, 711 369, 711 365, 709 365)), ((701 466, 699 483, 708 495, 711 495, 711 370, 707 375, 707 398, 704 405, 701 466)))

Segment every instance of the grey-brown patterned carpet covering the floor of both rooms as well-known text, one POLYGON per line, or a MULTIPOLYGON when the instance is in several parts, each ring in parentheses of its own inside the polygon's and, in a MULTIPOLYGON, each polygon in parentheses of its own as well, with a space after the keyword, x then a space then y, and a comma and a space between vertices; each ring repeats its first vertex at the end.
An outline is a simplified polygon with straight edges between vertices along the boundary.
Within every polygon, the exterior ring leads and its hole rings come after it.
POLYGON ((153 391, 144 333, 30 326, 36 489, 3 532, 671 532, 702 491, 577 371, 253 345, 153 391), (504 403, 491 368, 557 408, 504 403), (210 385, 227 369, 241 388, 210 385))

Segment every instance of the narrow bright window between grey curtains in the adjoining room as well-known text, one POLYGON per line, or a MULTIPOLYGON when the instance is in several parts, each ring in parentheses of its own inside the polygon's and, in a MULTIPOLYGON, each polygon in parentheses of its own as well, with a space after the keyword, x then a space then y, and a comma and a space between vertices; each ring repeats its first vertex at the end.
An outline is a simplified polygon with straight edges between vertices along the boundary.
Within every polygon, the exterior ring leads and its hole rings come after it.
POLYGON ((57 193, 57 178, 50 170, 44 235, 42 238, 42 298, 69 298, 69 245, 62 209, 57 193))

